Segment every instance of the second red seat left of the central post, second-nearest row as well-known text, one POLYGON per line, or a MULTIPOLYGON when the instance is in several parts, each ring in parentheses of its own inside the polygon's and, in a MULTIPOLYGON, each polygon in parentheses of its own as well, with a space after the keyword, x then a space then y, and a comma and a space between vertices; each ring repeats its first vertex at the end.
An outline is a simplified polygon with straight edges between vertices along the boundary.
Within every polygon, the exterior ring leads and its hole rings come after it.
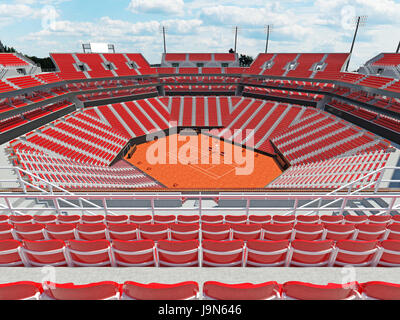
POLYGON ((117 266, 154 267, 157 264, 155 246, 152 240, 114 240, 111 252, 117 266))

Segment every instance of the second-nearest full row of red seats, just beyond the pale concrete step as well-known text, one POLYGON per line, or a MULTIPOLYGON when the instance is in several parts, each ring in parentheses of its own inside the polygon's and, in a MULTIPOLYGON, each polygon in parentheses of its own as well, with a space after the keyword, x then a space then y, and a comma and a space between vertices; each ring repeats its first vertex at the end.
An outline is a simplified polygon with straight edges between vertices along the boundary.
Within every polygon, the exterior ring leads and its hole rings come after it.
POLYGON ((1 267, 400 267, 400 241, 0 241, 1 267))

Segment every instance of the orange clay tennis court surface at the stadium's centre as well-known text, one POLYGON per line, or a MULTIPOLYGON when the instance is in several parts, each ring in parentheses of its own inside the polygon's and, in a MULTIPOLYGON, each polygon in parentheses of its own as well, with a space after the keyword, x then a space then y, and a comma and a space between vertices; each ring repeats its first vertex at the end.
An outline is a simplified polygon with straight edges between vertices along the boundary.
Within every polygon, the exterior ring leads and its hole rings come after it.
POLYGON ((245 167, 245 164, 237 164, 234 156, 235 149, 245 157, 246 150, 244 148, 223 142, 216 138, 205 135, 183 136, 175 134, 161 138, 158 141, 151 141, 138 145, 132 158, 128 159, 126 157, 125 159, 171 189, 264 188, 267 184, 282 174, 282 170, 275 163, 274 159, 247 150, 248 153, 253 154, 253 158, 250 157, 248 163, 250 163, 251 168, 254 167, 254 170, 250 175, 237 175, 236 168, 243 168, 245 167), (184 140, 180 141, 180 139, 184 140), (176 144, 174 141, 176 141, 176 144), (188 146, 189 141, 191 141, 192 146, 195 146, 195 149, 192 150, 196 150, 197 152, 184 152, 184 150, 188 150, 188 148, 185 149, 185 146, 188 146), (166 164, 150 164, 147 160, 148 154, 155 154, 158 157, 159 153, 154 151, 148 152, 148 149, 151 147, 154 150, 156 147, 155 145, 152 146, 154 143, 157 143, 157 146, 160 146, 161 143, 164 142, 166 148, 159 147, 158 150, 166 150, 166 164), (176 145, 177 148, 175 150, 177 151, 173 151, 174 149, 171 150, 170 145, 176 145), (198 147, 196 147, 196 145, 198 145, 198 147), (213 150, 210 150, 213 146, 214 152, 213 150), (229 159, 229 156, 227 156, 229 151, 224 152, 224 150, 229 149, 225 148, 230 148, 231 150, 231 158, 233 161, 229 161, 230 164, 224 163, 225 157, 229 159), (190 156, 191 160, 189 161, 191 163, 182 164, 181 160, 183 158, 177 157, 177 155, 180 154, 186 155, 187 158, 190 156), (220 158, 219 164, 213 164, 213 156, 220 158), (178 158, 179 161, 177 160, 178 158), (198 162, 197 164, 194 163, 196 159, 198 162), (205 164, 207 159, 209 164, 205 164), (171 163, 171 160, 175 160, 178 163, 171 163), (252 165, 253 162, 254 165, 252 165))

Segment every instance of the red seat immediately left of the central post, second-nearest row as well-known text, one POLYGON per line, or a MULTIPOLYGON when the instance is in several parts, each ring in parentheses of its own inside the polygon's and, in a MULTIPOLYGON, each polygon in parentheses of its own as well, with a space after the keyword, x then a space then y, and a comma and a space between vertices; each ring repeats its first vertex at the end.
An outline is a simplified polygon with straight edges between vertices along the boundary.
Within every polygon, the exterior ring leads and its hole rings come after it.
POLYGON ((157 261, 160 267, 199 267, 199 242, 167 241, 157 243, 157 261))

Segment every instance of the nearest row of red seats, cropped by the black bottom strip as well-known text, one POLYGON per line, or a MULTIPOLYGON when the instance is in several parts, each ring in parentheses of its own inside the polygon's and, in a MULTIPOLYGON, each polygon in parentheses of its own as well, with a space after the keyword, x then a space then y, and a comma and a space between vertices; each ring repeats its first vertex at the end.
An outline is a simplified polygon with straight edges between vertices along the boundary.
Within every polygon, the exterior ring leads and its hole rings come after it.
POLYGON ((0 300, 398 300, 400 285, 372 281, 317 285, 299 281, 226 284, 207 281, 75 285, 21 281, 0 285, 0 300))

